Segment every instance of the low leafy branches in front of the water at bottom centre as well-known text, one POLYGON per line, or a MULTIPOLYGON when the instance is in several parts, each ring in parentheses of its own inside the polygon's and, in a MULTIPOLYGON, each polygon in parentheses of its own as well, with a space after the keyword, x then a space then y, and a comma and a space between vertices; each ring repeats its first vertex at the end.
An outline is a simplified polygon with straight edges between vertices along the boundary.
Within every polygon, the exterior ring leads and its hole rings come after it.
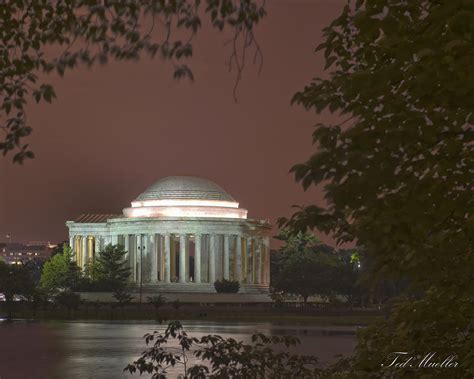
POLYGON ((218 335, 197 338, 190 337, 181 323, 174 321, 164 334, 155 331, 144 338, 147 345, 153 345, 124 371, 152 374, 155 379, 165 378, 169 367, 181 367, 182 375, 189 378, 324 377, 315 357, 288 352, 299 343, 296 337, 257 333, 251 344, 218 335), (167 346, 170 340, 175 340, 178 347, 167 346), (194 364, 192 357, 200 364, 194 364))

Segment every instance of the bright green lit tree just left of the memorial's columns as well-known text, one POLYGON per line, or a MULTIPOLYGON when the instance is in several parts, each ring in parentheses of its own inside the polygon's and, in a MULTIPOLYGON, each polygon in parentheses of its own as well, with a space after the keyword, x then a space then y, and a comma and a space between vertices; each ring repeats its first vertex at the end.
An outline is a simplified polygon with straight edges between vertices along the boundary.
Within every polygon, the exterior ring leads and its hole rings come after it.
POLYGON ((72 260, 72 249, 63 245, 63 253, 49 258, 43 266, 40 285, 49 293, 74 290, 79 286, 81 270, 72 260))

